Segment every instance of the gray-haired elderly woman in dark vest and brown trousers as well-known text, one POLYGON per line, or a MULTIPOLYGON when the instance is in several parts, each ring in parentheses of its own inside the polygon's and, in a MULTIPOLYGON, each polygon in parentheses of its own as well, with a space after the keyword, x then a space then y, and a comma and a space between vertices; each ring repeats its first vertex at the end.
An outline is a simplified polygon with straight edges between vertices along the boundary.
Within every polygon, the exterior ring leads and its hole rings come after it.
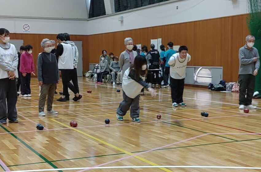
POLYGON ((47 98, 47 114, 58 114, 52 110, 53 96, 56 84, 59 83, 58 63, 56 56, 51 53, 52 44, 49 39, 45 38, 41 42, 43 52, 37 57, 37 74, 38 82, 41 86, 39 98, 39 115, 45 116, 45 99, 47 98))

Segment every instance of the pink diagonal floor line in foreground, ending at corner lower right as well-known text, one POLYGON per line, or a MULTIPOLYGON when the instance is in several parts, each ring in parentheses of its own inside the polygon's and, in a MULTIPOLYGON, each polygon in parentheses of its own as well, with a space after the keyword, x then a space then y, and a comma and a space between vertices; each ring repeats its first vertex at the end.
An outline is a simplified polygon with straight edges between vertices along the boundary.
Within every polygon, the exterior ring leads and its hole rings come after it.
POLYGON ((161 146, 161 147, 158 147, 158 148, 154 148, 154 149, 150 149, 148 151, 145 151, 145 152, 140 152, 140 153, 136 153, 136 154, 133 154, 133 155, 129 155, 129 156, 126 156, 126 157, 123 157, 123 158, 120 158, 120 159, 115 159, 113 161, 110 161, 110 162, 107 162, 107 163, 103 163, 103 164, 99 164, 99 165, 96 165, 96 166, 92 166, 90 168, 87 168, 87 169, 84 169, 84 170, 80 170, 80 171, 77 171, 77 172, 82 172, 82 171, 86 171, 86 170, 90 170, 90 169, 93 169, 95 167, 99 167, 99 166, 103 166, 103 165, 107 165, 107 164, 110 164, 110 163, 114 163, 114 162, 117 162, 117 161, 121 161, 123 159, 127 159, 127 158, 130 158, 130 157, 134 157, 134 156, 137 156, 137 155, 141 155, 141 154, 144 154, 144 153, 148 153, 148 152, 151 152, 151 151, 154 151, 154 150, 157 150, 157 149, 162 149, 162 148, 165 148, 165 147, 168 147, 168 146, 172 146, 174 144, 179 144, 179 143, 182 143, 182 142, 185 142, 185 141, 189 141, 189 140, 193 140, 193 139, 196 139, 198 137, 202 137, 202 136, 205 136, 205 135, 208 135, 208 133, 205 133, 205 134, 202 134, 202 135, 199 135, 199 136, 195 136, 195 137, 191 137, 189 139, 185 139, 185 140, 181 140, 181 141, 178 141, 178 142, 175 142, 175 143, 172 143, 172 144, 167 144, 165 146, 161 146))

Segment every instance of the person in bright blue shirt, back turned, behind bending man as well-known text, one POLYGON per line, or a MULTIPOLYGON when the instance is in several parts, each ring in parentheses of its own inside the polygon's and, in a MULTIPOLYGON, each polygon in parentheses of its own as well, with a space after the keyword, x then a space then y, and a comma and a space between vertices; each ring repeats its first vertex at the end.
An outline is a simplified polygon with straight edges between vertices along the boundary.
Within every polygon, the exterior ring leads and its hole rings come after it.
POLYGON ((176 54, 177 52, 173 50, 173 42, 168 43, 168 50, 166 50, 164 57, 163 57, 163 63, 165 63, 165 70, 164 70, 164 85, 162 86, 163 88, 169 87, 169 58, 173 55, 176 54))

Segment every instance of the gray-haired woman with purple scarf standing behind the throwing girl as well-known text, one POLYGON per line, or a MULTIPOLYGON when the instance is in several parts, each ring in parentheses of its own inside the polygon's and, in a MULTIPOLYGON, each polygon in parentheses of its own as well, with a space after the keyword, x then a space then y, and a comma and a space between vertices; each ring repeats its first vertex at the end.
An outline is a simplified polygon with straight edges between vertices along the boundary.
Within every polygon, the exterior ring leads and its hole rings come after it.
POLYGON ((136 51, 132 50, 133 48, 132 38, 125 38, 124 44, 126 50, 120 54, 120 59, 119 59, 119 66, 122 69, 121 80, 123 78, 125 71, 130 67, 131 64, 134 64, 134 59, 138 55, 136 51))

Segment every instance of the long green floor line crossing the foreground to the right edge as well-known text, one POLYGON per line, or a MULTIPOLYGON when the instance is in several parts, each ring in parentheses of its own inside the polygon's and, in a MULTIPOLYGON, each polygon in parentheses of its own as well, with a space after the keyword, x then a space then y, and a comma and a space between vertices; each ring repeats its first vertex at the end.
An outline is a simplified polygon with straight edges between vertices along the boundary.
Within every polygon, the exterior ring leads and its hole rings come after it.
MULTIPOLYGON (((181 146, 181 147, 175 147, 175 148, 162 148, 162 149, 157 149, 157 150, 154 150, 154 151, 161 151, 161 150, 168 150, 168 149, 178 149, 178 148, 189 148, 189 147, 196 147, 196 146, 206 146, 206 145, 212 145, 212 144, 224 144, 224 143, 243 142, 243 141, 251 141, 251 140, 261 140, 261 138, 259 138, 259 139, 248 139, 248 140, 228 141, 228 142, 219 142, 219 143, 196 144, 196 145, 191 145, 191 146, 181 146)), ((131 152, 131 153, 139 153, 139 152, 145 152, 145 151, 134 151, 134 152, 131 152)), ((60 159, 60 160, 54 160, 54 161, 50 161, 50 162, 53 163, 53 162, 59 162, 59 161, 70 161, 70 160, 76 160, 76 159, 88 159, 88 158, 96 158, 96 157, 112 156, 112 155, 122 155, 122 154, 125 154, 125 153, 87 156, 87 157, 72 158, 72 159, 60 159)), ((40 162, 40 163, 46 163, 46 162, 40 162)), ((31 164, 40 164, 40 163, 18 164, 18 165, 10 165, 8 167, 31 165, 31 164)))

